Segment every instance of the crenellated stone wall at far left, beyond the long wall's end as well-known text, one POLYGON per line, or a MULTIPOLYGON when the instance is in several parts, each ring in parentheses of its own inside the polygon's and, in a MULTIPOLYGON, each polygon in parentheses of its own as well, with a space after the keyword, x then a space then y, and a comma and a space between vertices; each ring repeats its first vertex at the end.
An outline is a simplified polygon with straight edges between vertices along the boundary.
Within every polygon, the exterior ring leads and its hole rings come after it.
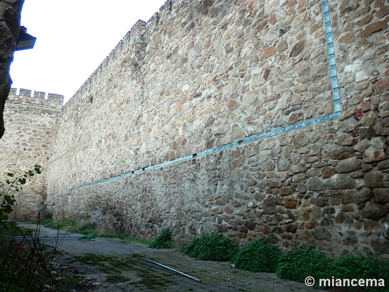
MULTIPOLYGON (((5 183, 7 173, 22 175, 42 166, 42 174, 34 177, 14 193, 17 199, 11 217, 40 209, 46 198, 46 176, 50 157, 52 128, 62 107, 63 96, 46 92, 12 88, 5 103, 6 132, 0 140, 0 181, 5 183)), ((27 219, 22 218, 22 219, 27 219)), ((36 214, 30 216, 36 218, 36 214)))

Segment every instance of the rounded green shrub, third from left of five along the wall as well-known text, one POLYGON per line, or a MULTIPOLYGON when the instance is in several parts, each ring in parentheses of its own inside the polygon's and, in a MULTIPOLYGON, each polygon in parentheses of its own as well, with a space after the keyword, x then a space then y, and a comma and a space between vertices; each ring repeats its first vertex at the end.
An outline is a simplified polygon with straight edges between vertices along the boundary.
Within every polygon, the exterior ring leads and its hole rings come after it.
POLYGON ((277 246, 266 244, 265 240, 258 239, 241 248, 232 262, 238 269, 274 273, 281 255, 277 246))

